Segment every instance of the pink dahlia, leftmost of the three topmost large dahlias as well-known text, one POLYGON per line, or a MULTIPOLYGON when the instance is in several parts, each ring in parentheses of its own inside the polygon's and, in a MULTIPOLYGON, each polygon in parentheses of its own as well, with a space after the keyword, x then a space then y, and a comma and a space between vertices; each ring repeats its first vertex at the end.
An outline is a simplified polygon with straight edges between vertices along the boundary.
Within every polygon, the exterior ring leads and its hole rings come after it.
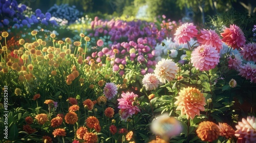
POLYGON ((176 30, 174 41, 178 44, 184 44, 190 41, 190 38, 196 37, 198 30, 193 23, 184 23, 176 30))

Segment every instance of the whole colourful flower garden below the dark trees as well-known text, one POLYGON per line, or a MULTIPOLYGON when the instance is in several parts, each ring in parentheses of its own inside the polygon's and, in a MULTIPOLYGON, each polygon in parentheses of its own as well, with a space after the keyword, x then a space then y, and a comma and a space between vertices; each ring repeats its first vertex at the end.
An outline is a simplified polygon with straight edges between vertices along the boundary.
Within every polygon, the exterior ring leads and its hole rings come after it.
POLYGON ((0 8, 1 142, 256 142, 256 25, 0 8))

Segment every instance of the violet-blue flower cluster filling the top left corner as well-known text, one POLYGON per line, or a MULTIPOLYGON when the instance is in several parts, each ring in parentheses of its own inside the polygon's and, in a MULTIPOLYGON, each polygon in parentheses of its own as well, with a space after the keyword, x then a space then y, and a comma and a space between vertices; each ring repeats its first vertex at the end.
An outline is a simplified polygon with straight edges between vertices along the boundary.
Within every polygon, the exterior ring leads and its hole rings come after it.
POLYGON ((46 26, 48 26, 49 23, 55 26, 58 25, 55 20, 51 19, 49 12, 43 14, 41 10, 37 9, 35 15, 32 14, 28 17, 23 13, 26 9, 26 5, 18 5, 15 0, 0 1, 0 19, 3 19, 3 22, 0 22, 0 27, 12 26, 12 28, 19 29, 27 26, 30 28, 31 25, 38 23, 46 26))

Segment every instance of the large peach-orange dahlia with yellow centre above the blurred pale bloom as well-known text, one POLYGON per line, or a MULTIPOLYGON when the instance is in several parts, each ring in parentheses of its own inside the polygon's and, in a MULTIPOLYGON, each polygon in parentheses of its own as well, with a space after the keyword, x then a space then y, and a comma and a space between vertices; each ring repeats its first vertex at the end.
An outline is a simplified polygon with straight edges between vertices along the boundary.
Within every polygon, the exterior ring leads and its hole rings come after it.
POLYGON ((179 96, 175 98, 177 101, 174 104, 178 105, 177 110, 181 110, 181 115, 186 114, 187 119, 193 120, 196 115, 200 115, 200 111, 205 110, 206 103, 203 93, 196 88, 183 88, 180 90, 179 96))

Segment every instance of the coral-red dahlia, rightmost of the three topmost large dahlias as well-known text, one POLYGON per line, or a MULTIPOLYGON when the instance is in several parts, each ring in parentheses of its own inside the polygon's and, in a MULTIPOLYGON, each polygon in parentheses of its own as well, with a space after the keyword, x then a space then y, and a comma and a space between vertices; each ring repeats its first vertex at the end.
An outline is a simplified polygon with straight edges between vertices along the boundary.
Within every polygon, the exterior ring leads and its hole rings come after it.
POLYGON ((245 43, 245 37, 243 31, 236 25, 230 25, 230 28, 225 28, 224 32, 221 33, 222 41, 228 46, 239 50, 239 47, 243 46, 245 43))

